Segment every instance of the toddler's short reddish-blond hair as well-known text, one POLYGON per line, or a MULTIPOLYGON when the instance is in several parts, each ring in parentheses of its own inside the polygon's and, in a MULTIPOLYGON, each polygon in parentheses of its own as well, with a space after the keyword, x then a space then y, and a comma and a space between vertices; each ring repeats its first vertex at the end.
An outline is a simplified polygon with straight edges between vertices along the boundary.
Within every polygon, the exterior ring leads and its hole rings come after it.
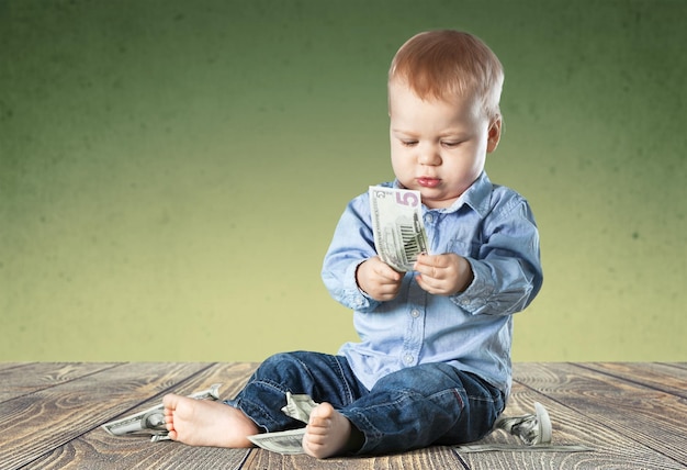
POLYGON ((388 85, 396 80, 420 99, 449 100, 473 93, 482 99, 489 120, 500 115, 504 68, 494 52, 472 34, 441 30, 410 37, 392 60, 388 85))

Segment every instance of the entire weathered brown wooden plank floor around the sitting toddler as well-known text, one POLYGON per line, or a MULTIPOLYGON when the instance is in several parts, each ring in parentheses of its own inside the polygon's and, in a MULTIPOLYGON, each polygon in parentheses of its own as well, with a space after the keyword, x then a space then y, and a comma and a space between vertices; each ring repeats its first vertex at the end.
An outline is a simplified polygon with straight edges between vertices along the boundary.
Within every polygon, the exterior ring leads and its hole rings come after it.
MULTIPOLYGON (((685 469, 687 363, 516 363, 506 414, 542 403, 553 444, 585 452, 458 452, 450 447, 316 460, 262 449, 194 448, 113 437, 100 425, 224 383, 233 396, 252 363, 0 363, 0 469, 685 469)), ((496 432, 483 443, 517 441, 496 432)))

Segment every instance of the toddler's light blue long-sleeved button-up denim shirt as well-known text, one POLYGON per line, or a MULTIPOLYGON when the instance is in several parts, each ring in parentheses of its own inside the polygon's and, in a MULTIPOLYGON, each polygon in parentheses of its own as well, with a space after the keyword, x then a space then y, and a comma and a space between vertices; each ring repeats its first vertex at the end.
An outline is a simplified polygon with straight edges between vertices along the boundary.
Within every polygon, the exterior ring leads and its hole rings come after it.
MULTIPOLYGON (((398 182, 382 186, 398 187, 398 182)), ((383 376, 425 362, 446 362, 510 392, 513 317, 539 292, 539 233, 527 201, 493 184, 485 172, 450 206, 423 205, 431 255, 468 259, 473 282, 455 295, 423 290, 406 272, 398 295, 368 296, 356 269, 376 255, 368 193, 353 199, 336 227, 322 277, 330 294, 354 311, 359 343, 339 354, 368 388, 383 376)))

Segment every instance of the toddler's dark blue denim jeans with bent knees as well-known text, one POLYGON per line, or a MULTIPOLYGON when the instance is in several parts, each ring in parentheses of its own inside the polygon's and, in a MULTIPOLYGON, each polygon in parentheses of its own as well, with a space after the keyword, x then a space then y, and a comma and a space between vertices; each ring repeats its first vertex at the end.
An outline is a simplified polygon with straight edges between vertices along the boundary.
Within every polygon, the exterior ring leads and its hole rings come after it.
POLYGON ((505 406, 498 389, 446 363, 392 372, 368 390, 345 357, 307 351, 268 358, 225 403, 267 432, 303 427, 281 412, 288 391, 331 403, 364 436, 357 452, 363 455, 477 440, 491 432, 505 406))

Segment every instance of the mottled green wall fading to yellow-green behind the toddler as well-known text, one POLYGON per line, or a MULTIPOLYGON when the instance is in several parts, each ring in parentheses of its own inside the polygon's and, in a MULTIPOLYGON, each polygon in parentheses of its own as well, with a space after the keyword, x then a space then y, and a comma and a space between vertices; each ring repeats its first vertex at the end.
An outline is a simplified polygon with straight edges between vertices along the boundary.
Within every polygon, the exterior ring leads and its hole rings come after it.
POLYGON ((0 0, 0 360, 261 360, 356 337, 319 279, 392 178, 418 31, 506 68, 487 163, 544 287, 516 360, 687 360, 684 1, 0 0))

